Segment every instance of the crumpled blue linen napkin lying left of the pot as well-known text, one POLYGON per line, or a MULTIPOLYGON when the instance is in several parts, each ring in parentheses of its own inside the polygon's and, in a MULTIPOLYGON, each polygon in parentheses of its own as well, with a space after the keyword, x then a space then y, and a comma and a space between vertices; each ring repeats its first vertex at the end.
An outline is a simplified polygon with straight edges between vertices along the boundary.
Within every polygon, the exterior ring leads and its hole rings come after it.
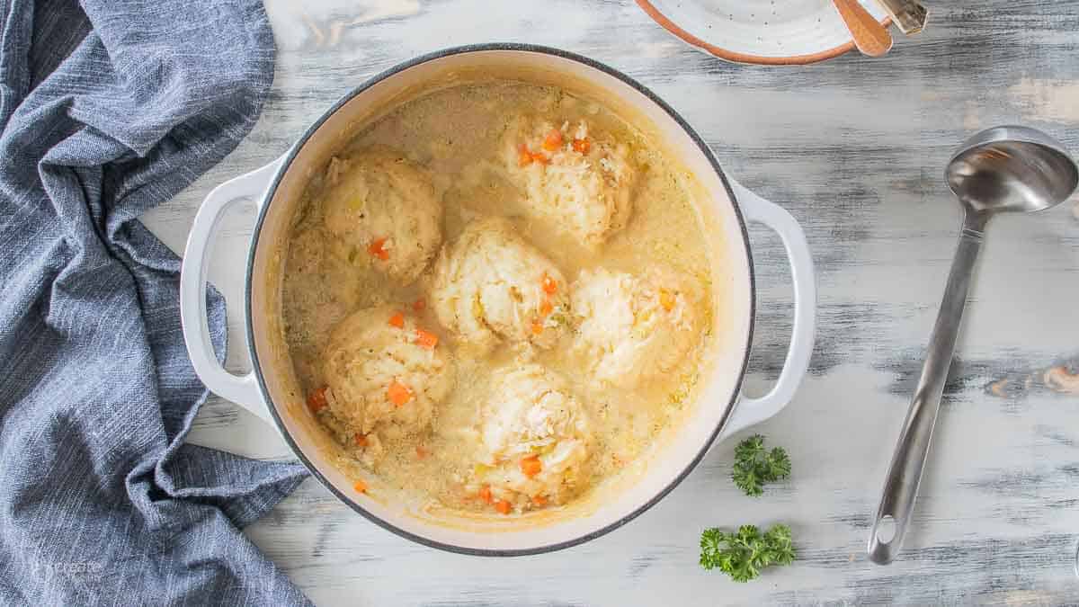
POLYGON ((180 264, 136 219, 254 125, 261 1, 0 0, 0 604, 305 603, 237 529, 305 472, 182 444, 206 390, 180 264))

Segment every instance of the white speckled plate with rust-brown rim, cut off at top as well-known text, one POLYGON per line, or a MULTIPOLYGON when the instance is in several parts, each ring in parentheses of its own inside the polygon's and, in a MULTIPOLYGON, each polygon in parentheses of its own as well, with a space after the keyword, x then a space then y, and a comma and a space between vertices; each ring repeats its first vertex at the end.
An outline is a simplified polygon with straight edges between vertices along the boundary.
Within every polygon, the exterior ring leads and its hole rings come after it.
MULTIPOLYGON (((860 0, 880 23, 890 17, 874 0, 860 0)), ((830 0, 637 0, 671 33, 721 59, 801 65, 855 48, 830 0)))

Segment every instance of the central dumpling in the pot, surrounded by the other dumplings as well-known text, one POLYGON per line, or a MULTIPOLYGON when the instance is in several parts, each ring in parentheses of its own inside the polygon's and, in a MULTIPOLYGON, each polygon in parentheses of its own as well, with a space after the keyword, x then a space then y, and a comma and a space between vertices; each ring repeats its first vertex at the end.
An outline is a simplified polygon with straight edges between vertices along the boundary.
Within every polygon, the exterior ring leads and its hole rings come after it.
POLYGON ((550 348, 569 322, 562 272, 501 218, 473 221, 442 248, 431 299, 438 321, 481 353, 502 340, 550 348))

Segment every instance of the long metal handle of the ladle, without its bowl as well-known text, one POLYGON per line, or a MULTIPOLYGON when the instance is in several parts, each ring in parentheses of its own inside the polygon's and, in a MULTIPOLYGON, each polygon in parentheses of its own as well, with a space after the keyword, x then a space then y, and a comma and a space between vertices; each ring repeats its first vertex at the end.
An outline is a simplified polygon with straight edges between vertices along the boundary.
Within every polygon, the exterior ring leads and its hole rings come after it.
POLYGON ((967 305, 971 273, 982 248, 982 235, 986 217, 968 212, 964 218, 959 246, 952 261, 944 300, 941 302, 937 324, 929 338, 926 362, 921 367, 921 378, 911 401, 911 409, 903 422, 903 431, 896 445, 896 454, 888 468, 888 476, 880 497, 873 529, 870 532, 868 552, 870 561, 878 565, 892 562, 903 544, 903 536, 914 511, 914 500, 918 495, 921 471, 940 410, 941 395, 952 366, 955 342, 959 336, 959 324, 967 305), (892 530, 893 529, 893 530, 892 530))

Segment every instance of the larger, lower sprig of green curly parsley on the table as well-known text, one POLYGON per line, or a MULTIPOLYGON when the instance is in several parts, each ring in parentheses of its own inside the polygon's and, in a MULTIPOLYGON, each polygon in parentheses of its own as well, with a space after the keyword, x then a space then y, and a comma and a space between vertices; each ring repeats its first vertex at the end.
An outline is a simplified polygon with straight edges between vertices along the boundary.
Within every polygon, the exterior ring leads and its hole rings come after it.
POLYGON ((714 527, 700 534, 700 566, 720 569, 736 582, 748 582, 765 567, 793 561, 794 544, 787 525, 774 525, 764 534, 755 525, 742 525, 734 534, 714 527))

